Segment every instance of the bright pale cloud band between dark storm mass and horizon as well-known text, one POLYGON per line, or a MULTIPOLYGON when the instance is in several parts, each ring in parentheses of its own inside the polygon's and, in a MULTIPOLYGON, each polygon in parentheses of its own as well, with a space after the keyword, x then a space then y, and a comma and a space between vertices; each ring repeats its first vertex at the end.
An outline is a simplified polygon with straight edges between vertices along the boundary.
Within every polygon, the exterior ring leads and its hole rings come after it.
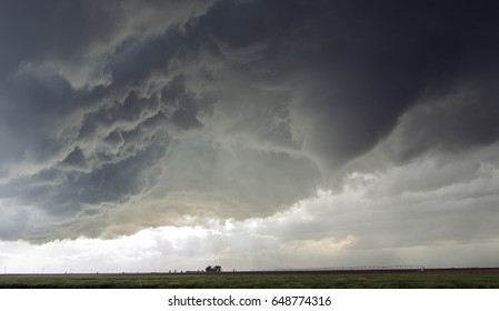
POLYGON ((107 240, 2 242, 0 265, 12 272, 31 272, 27 267, 36 272, 164 272, 214 263, 229 270, 491 267, 499 260, 495 151, 482 149, 451 163, 435 157, 386 171, 352 172, 341 191, 318 191, 263 218, 184 218, 183 227, 107 240), (456 173, 448 165, 469 169, 456 173), (427 184, 435 174, 441 180, 427 184))

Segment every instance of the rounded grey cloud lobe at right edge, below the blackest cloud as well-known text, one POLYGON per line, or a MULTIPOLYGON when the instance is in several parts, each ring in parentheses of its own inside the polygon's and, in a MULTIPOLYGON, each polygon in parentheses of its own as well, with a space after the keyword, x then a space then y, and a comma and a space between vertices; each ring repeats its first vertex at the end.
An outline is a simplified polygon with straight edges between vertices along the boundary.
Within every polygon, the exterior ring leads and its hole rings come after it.
POLYGON ((497 98, 497 87, 467 86, 417 106, 387 141, 388 154, 407 162, 431 150, 452 153, 495 143, 497 98))

